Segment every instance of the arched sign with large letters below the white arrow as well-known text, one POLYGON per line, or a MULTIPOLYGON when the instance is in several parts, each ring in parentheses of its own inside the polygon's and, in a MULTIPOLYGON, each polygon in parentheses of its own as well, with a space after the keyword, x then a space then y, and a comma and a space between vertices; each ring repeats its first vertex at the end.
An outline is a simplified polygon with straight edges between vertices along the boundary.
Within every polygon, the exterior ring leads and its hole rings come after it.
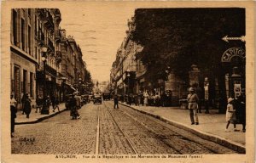
POLYGON ((221 61, 230 62, 230 60, 235 56, 240 57, 241 59, 245 59, 245 50, 243 48, 229 48, 223 53, 221 61))

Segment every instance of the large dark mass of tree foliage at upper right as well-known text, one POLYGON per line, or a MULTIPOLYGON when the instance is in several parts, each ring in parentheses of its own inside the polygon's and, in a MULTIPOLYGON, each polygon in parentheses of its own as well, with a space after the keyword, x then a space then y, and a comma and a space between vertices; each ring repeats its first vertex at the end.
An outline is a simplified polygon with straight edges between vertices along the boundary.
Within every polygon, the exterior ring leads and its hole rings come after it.
POLYGON ((222 37, 245 35, 245 9, 139 8, 135 26, 132 39, 143 46, 137 57, 147 67, 148 81, 166 79, 166 70, 184 78, 193 64, 218 73, 222 53, 244 46, 222 37))

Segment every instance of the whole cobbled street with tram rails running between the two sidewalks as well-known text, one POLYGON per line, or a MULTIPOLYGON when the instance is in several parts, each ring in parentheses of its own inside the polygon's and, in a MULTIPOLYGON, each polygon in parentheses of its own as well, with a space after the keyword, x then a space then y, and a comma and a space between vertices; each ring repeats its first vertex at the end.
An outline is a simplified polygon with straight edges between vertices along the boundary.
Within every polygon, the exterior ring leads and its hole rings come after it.
POLYGON ((113 101, 85 104, 79 120, 64 111, 48 120, 15 126, 13 154, 232 154, 217 143, 113 101))

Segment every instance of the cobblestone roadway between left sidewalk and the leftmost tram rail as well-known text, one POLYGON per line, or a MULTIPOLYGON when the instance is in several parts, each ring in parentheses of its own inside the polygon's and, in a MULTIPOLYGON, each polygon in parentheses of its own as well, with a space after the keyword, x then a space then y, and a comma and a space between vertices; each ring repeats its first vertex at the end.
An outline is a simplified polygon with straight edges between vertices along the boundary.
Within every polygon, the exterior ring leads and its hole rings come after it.
POLYGON ((71 120, 67 110, 40 123, 15 126, 12 153, 95 154, 97 110, 84 105, 79 113, 79 120, 71 120))

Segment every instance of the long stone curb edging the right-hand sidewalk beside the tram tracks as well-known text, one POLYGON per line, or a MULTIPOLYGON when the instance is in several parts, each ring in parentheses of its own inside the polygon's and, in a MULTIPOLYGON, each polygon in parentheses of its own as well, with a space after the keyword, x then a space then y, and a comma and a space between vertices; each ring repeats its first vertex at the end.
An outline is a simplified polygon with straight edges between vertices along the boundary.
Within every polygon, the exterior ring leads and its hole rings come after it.
MULTIPOLYGON (((122 104, 122 103, 119 103, 119 104, 122 104)), ((133 110, 137 110, 136 108, 132 107, 131 105, 128 105, 128 104, 123 104, 123 105, 125 105, 127 107, 130 107, 133 110)), ((170 124, 172 126, 177 126, 178 128, 181 128, 181 129, 183 129, 183 130, 185 130, 187 132, 194 133, 195 135, 197 135, 197 136, 199 136, 199 137, 201 137, 203 139, 212 141, 214 143, 218 143, 220 145, 223 145, 224 147, 227 147, 229 149, 235 150, 239 154, 246 154, 245 146, 243 146, 240 143, 236 143, 236 142, 227 140, 226 138, 220 138, 217 135, 213 135, 211 133, 201 132, 201 131, 196 130, 194 128, 190 128, 189 126, 183 125, 182 123, 179 123, 177 121, 171 121, 171 120, 167 119, 164 116, 154 115, 152 113, 148 113, 147 111, 143 111, 143 110, 137 110, 137 111, 141 112, 141 113, 143 113, 145 115, 153 116, 154 118, 159 119, 160 121, 164 121, 164 122, 166 122, 166 123, 168 123, 168 124, 170 124)))

